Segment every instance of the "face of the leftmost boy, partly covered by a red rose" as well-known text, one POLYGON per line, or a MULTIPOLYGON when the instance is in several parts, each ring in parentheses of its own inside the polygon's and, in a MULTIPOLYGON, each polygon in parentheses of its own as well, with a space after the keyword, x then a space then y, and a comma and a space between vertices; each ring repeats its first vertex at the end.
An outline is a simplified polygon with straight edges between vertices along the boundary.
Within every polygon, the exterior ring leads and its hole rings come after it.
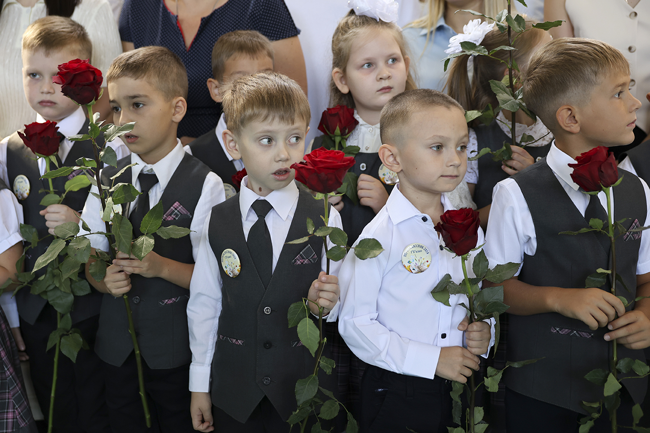
POLYGON ((59 65, 79 56, 73 49, 23 50, 23 89, 29 105, 45 120, 60 121, 70 116, 79 105, 61 93, 60 84, 52 77, 59 72, 59 65))

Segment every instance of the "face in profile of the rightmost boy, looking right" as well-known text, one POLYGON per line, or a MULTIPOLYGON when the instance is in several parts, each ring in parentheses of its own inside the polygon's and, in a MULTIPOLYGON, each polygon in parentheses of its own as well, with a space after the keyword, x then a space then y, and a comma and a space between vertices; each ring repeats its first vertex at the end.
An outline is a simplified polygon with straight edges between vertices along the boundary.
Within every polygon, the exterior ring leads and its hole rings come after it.
POLYGON ((588 105, 580 108, 580 132, 593 146, 619 146, 634 141, 636 110, 641 102, 629 91, 630 76, 610 73, 593 88, 588 105))

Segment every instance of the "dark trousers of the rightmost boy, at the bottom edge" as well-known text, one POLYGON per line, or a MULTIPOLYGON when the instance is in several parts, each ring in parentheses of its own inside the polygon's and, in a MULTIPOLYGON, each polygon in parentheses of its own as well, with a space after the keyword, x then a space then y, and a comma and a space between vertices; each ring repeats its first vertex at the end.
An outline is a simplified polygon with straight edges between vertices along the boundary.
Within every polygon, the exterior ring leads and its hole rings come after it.
MULTIPOLYGON (((618 425, 632 425, 632 406, 634 406, 632 397, 625 388, 621 388, 621 406, 616 412, 618 425)), ((578 421, 585 416, 506 388, 506 431, 508 433, 578 433, 580 427, 578 421)), ((590 433, 611 431, 609 413, 603 408, 603 413, 596 420, 590 433)), ((632 432, 621 427, 618 431, 632 432)))

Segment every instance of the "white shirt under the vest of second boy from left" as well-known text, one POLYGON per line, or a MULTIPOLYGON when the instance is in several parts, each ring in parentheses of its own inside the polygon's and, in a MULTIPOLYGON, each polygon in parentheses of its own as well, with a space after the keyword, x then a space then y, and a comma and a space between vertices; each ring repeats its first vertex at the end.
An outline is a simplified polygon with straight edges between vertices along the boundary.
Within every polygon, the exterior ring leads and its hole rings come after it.
MULTIPOLYGON (((164 193, 167 184, 169 183, 174 171, 181 163, 185 151, 183 151, 183 146, 181 145, 181 140, 177 140, 177 143, 161 160, 155 164, 146 164, 140 156, 135 153, 131 154, 131 163, 137 164, 136 166, 131 167, 131 184, 135 186, 136 190, 140 191, 140 182, 138 181, 138 175, 140 171, 144 173, 155 173, 158 178, 158 183, 151 187, 149 190, 149 208, 153 208, 161 199, 162 193, 164 193)), ((96 186, 92 186, 91 192, 97 193, 96 186)), ((140 197, 136 197, 135 201, 131 203, 129 207, 129 214, 135 208, 135 204, 140 200, 140 197)), ((215 204, 221 203, 226 199, 226 193, 224 193, 224 184, 221 181, 221 178, 214 174, 212 171, 208 173, 203 182, 201 189, 201 197, 196 204, 194 209, 194 215, 192 216, 192 223, 190 223, 190 240, 192 241, 192 256, 196 260, 196 254, 198 252, 199 241, 201 238, 201 232, 203 231, 203 223, 205 223, 205 216, 209 214, 212 207, 215 204)), ((88 194, 86 203, 83 206, 82 218, 88 224, 88 227, 93 232, 103 232, 105 231, 104 221, 101 219, 101 202, 97 197, 92 194, 88 194)), ((79 221, 81 227, 81 221, 79 221)), ((88 233, 83 228, 79 234, 88 233)), ((101 234, 90 234, 88 235, 90 239, 90 245, 95 249, 101 249, 102 251, 109 250, 109 241, 106 237, 101 234)), ((154 247, 155 249, 155 247, 154 247)))

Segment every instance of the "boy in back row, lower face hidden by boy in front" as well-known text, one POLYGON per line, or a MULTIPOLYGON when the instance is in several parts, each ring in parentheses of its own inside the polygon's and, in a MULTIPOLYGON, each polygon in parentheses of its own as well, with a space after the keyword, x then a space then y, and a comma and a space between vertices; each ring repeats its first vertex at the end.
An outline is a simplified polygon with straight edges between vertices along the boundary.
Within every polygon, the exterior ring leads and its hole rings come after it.
MULTIPOLYGON (((222 101, 222 86, 227 80, 255 72, 273 70, 273 47, 263 34, 253 30, 237 30, 222 35, 212 50, 212 73, 207 79, 210 96, 216 103, 222 101)), ((185 150, 200 159, 224 180, 226 199, 239 191, 231 179, 244 169, 242 160, 235 160, 226 152, 222 133, 227 129, 226 117, 221 114, 215 130, 211 130, 193 142, 185 150)))

